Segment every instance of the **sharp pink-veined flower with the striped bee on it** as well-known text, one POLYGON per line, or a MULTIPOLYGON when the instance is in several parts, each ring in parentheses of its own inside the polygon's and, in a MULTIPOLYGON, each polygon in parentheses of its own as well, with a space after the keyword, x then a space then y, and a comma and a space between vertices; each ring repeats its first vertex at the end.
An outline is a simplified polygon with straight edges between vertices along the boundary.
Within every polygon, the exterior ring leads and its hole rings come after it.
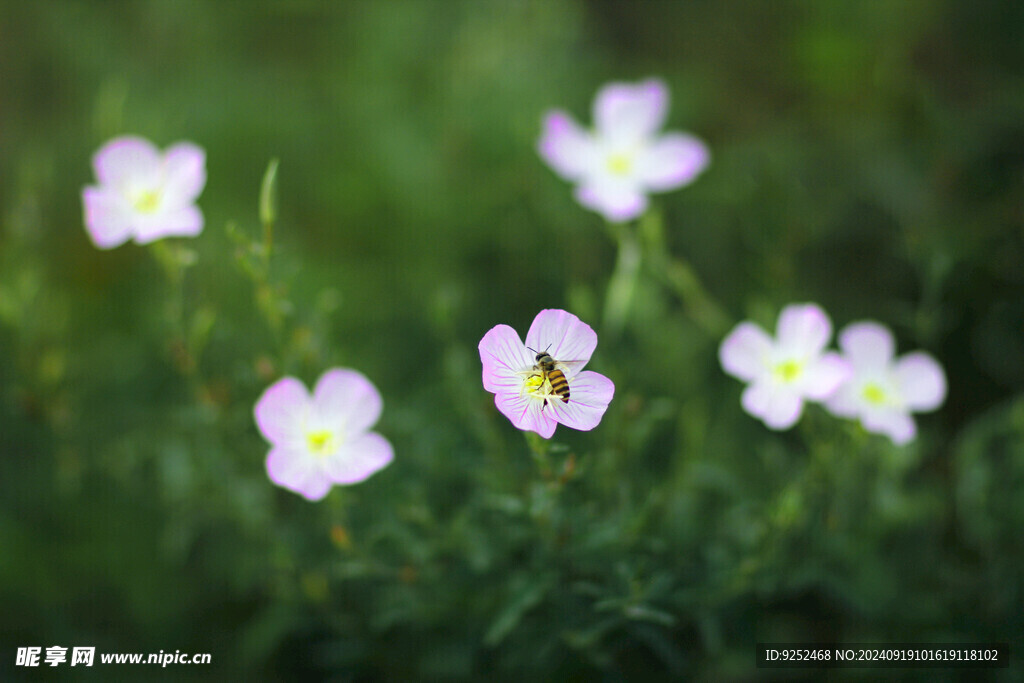
POLYGON ((495 405, 518 429, 544 438, 551 438, 559 422, 591 430, 601 422, 615 392, 615 385, 604 375, 583 371, 595 348, 597 333, 564 310, 538 313, 525 344, 515 330, 499 325, 479 344, 483 388, 495 394, 495 405), (560 378, 538 365, 537 353, 545 352, 559 361, 556 369, 568 383, 567 401, 560 378))

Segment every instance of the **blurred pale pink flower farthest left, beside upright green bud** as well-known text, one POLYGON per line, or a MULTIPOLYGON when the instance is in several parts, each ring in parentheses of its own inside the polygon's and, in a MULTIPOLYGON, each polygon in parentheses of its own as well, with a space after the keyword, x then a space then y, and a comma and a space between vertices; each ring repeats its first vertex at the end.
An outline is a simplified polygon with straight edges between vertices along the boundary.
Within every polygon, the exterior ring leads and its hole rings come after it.
POLYGON ((206 153, 178 142, 161 154, 141 137, 118 137, 92 158, 97 185, 82 190, 85 228, 99 249, 128 240, 196 237, 203 212, 196 200, 206 184, 206 153))

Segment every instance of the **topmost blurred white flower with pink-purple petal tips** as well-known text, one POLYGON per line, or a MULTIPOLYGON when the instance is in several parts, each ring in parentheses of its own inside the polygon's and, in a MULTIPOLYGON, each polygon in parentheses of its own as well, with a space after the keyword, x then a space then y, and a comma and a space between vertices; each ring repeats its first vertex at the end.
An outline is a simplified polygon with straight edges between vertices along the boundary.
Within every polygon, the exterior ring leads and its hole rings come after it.
POLYGON ((692 135, 658 134, 668 111, 669 90, 659 80, 609 83, 594 100, 594 130, 565 112, 549 112, 538 151, 577 183, 580 204, 612 222, 632 220, 647 209, 648 193, 688 184, 711 157, 692 135))

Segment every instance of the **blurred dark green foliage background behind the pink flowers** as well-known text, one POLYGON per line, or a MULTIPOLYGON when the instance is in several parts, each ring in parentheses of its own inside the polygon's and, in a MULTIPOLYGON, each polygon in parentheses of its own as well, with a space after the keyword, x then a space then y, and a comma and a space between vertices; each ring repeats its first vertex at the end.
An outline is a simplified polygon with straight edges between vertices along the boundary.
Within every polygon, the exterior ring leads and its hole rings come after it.
POLYGON ((173 674, 209 680, 753 678, 759 641, 1024 651, 1024 3, 0 7, 4 678, 50 645, 210 652, 173 674), (602 84, 651 76, 713 161, 657 198, 666 245, 612 335, 614 243, 535 146, 548 109, 589 122, 602 84), (90 157, 125 133, 207 151, 179 283, 84 230, 90 157), (904 449, 818 407, 765 429, 667 259, 731 322, 816 301, 885 323, 943 364, 945 405, 904 449), (616 385, 547 465, 476 350, 546 307, 595 327, 616 385), (339 365, 381 389, 395 461, 310 504, 267 480, 252 407, 339 365))

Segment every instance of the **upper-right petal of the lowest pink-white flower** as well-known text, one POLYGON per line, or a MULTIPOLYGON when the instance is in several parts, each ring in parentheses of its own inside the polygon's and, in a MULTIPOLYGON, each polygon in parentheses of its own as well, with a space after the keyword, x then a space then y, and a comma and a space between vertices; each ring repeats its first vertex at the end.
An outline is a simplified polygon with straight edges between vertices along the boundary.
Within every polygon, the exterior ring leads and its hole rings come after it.
POLYGON ((362 373, 334 368, 324 373, 313 390, 309 429, 328 429, 351 439, 369 431, 381 417, 384 401, 362 373))

